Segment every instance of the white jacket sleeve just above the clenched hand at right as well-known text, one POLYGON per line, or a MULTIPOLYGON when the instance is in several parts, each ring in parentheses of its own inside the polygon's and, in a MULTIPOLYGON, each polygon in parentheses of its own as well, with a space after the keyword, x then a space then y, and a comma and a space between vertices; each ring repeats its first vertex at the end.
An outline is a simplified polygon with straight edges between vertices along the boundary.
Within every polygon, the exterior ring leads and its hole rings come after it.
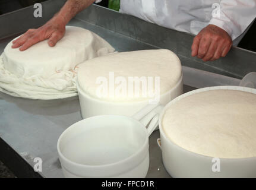
POLYGON ((209 24, 214 24, 232 37, 240 36, 256 17, 256 0, 220 0, 209 24))

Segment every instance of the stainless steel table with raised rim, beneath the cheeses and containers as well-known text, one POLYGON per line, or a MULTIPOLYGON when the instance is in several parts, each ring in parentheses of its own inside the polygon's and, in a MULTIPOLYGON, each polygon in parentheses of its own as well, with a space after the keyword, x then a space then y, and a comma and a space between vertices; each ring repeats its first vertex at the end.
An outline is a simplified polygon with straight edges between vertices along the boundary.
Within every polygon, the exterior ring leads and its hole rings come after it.
MULTIPOLYGON (((0 53, 18 34, 35 28, 52 17, 64 1, 43 3, 43 18, 33 17, 33 7, 24 8, 0 17, 0 53)), ((119 52, 140 49, 166 48, 177 53, 182 65, 242 78, 256 70, 256 53, 233 47, 227 58, 205 63, 190 56, 193 36, 165 29, 138 18, 92 5, 68 25, 89 29, 106 39, 119 52)), ((185 91, 193 87, 184 86, 185 91)), ((18 177, 61 178, 56 143, 59 135, 80 121, 78 97, 59 100, 29 100, 0 93, 0 160, 18 177), (34 172, 34 158, 43 160, 42 172, 34 172)), ((169 178, 162 164, 156 139, 150 137, 150 169, 148 178, 169 178)))

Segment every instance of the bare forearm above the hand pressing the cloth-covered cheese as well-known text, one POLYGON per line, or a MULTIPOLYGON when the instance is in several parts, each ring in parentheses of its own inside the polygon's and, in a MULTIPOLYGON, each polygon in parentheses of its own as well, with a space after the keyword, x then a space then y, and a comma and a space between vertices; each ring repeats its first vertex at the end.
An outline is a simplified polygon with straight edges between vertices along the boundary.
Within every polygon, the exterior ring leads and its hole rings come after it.
POLYGON ((55 18, 67 24, 78 12, 83 11, 95 0, 68 0, 61 10, 55 15, 55 18))

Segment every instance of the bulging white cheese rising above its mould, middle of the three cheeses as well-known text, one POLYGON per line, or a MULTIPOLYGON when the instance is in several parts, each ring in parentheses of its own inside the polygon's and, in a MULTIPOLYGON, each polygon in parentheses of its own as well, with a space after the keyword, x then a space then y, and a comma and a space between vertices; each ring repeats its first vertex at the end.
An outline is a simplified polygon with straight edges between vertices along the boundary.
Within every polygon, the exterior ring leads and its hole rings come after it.
POLYGON ((172 90, 181 78, 178 56, 166 49, 111 53, 78 69, 81 90, 110 102, 153 100, 172 90))

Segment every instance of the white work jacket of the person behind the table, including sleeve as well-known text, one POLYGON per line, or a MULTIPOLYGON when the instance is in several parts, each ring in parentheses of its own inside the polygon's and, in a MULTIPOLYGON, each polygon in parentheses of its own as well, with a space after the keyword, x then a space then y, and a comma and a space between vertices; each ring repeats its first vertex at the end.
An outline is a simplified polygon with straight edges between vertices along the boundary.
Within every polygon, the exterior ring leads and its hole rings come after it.
POLYGON ((256 0, 121 0, 120 12, 197 35, 214 24, 235 40, 256 17, 256 0))

